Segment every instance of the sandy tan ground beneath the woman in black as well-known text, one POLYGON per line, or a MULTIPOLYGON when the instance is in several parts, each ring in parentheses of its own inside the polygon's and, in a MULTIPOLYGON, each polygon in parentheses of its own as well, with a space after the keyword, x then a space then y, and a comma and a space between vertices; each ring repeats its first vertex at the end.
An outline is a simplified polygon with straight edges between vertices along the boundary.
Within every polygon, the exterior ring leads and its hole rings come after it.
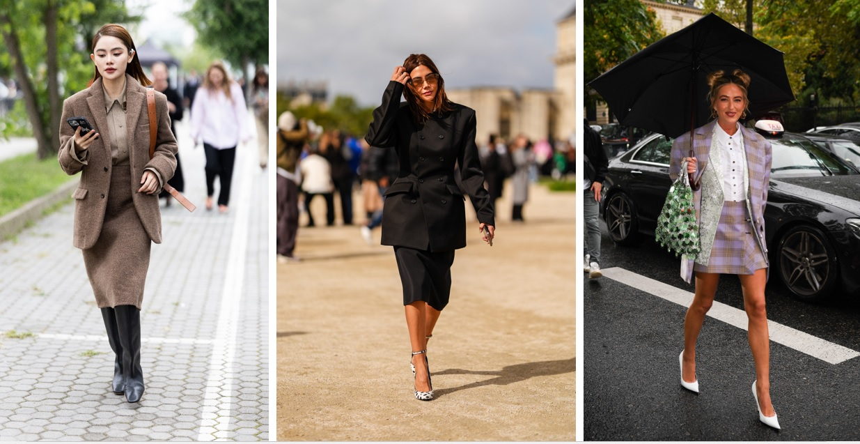
MULTIPOLYGON (((304 261, 277 267, 279 440, 575 440, 575 194, 535 186, 512 224, 511 191, 492 247, 466 202, 469 245, 427 348, 428 403, 413 392, 391 248, 379 231, 365 244, 358 225, 304 228, 303 215, 304 261)), ((311 207, 324 220, 322 200, 311 207)))

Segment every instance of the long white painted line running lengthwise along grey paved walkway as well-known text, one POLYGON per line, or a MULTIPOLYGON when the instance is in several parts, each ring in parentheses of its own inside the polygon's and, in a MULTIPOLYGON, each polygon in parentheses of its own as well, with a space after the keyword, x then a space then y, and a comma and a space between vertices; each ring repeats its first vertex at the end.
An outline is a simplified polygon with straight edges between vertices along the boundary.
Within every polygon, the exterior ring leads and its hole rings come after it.
MULTIPOLYGON (((254 145, 256 146, 256 145, 254 145)), ((237 151, 250 151, 251 144, 237 151)), ((230 212, 235 211, 236 221, 230 238, 230 253, 224 268, 224 292, 221 294, 221 311, 218 313, 218 331, 212 347, 209 379, 206 381, 206 397, 203 400, 200 434, 197 441, 224 439, 230 430, 230 410, 233 404, 233 361, 236 352, 237 324, 245 280, 245 258, 248 255, 248 232, 250 219, 250 156, 248 152, 237 152, 237 192, 233 194, 230 212)))

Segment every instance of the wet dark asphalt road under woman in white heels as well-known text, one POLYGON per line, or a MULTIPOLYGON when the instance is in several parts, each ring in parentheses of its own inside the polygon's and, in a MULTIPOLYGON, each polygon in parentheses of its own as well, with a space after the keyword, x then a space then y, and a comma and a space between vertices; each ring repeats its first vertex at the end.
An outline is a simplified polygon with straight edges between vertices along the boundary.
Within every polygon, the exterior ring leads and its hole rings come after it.
MULTIPOLYGON (((693 292, 679 259, 646 237, 616 247, 606 234, 602 268, 624 268, 693 292)), ((824 305, 790 299, 771 275, 768 319, 860 351, 860 295, 824 305)), ((679 384, 686 307, 647 293, 647 286, 589 281, 583 299, 586 441, 830 441, 860 438, 860 357, 830 364, 771 342, 771 398, 781 431, 759 422, 746 330, 705 320, 697 343, 699 394, 679 384)), ((723 276, 716 301, 743 310, 740 281, 723 276)))

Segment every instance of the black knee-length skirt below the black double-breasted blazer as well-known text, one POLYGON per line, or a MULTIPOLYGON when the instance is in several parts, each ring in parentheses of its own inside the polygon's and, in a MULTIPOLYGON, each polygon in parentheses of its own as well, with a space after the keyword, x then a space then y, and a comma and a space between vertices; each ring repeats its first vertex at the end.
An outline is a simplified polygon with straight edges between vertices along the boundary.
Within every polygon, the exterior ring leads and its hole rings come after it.
POLYGON ((403 305, 420 300, 442 311, 451 296, 451 265, 454 250, 428 251, 394 247, 403 285, 403 305))

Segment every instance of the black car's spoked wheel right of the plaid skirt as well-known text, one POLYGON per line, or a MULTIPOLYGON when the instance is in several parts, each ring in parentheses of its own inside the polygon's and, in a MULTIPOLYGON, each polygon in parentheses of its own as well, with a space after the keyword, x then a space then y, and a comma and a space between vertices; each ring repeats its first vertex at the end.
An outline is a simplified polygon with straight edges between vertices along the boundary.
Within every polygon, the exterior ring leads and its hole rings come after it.
POLYGON ((839 268, 824 232, 809 225, 787 231, 777 247, 779 277, 792 297, 820 302, 832 295, 839 268))

